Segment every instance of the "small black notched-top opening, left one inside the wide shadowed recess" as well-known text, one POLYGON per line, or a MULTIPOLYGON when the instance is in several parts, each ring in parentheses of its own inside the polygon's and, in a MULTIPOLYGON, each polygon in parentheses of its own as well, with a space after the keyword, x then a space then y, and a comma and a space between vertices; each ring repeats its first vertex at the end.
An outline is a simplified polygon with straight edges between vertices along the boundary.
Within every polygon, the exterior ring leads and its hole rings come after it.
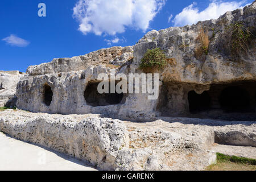
POLYGON ((210 96, 208 92, 197 94, 195 91, 188 93, 189 111, 197 113, 199 111, 207 111, 210 109, 210 96))

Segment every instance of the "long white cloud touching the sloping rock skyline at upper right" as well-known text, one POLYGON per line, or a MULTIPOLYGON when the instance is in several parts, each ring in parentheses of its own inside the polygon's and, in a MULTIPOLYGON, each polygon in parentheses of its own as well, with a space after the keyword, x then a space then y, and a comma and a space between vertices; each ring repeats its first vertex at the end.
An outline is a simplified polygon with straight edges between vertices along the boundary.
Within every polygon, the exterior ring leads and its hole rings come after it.
POLYGON ((217 19, 222 14, 225 14, 226 11, 242 8, 245 3, 246 1, 212 1, 205 10, 199 11, 198 7, 196 7, 196 2, 193 2, 192 5, 185 7, 181 13, 177 14, 172 22, 174 26, 185 26, 186 24, 191 25, 203 20, 217 19))

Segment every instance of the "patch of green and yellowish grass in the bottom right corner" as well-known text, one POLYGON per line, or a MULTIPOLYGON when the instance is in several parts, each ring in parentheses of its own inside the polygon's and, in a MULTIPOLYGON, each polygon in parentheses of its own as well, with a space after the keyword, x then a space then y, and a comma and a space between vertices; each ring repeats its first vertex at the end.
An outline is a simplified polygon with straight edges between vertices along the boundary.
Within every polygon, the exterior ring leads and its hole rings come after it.
POLYGON ((210 165, 207 171, 255 171, 256 160, 228 156, 217 153, 217 164, 210 165))

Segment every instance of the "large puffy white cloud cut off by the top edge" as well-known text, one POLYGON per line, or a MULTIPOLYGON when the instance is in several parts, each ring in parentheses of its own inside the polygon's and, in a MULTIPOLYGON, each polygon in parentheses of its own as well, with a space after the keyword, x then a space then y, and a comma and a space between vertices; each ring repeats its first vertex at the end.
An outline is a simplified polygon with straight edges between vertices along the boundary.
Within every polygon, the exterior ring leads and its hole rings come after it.
POLYGON ((115 35, 126 27, 146 31, 150 21, 162 9, 166 0, 79 0, 73 8, 73 18, 83 34, 115 35))

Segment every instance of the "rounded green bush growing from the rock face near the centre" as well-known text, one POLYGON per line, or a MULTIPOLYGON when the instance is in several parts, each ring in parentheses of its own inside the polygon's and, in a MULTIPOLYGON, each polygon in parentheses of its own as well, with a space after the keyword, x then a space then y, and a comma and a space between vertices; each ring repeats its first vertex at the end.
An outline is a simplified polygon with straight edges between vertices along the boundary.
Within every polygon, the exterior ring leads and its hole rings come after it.
POLYGON ((166 55, 160 48, 148 49, 144 54, 139 68, 144 72, 161 70, 167 65, 166 55))

